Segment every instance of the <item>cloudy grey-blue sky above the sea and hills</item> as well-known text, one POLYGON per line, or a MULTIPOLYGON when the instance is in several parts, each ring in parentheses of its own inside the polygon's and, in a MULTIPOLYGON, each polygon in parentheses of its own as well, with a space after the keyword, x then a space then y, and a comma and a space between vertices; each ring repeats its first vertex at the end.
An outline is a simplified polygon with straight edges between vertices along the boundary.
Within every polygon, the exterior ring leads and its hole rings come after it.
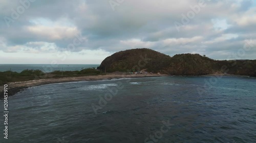
POLYGON ((0 0, 0 64, 100 64, 127 49, 256 59, 255 0, 0 0))

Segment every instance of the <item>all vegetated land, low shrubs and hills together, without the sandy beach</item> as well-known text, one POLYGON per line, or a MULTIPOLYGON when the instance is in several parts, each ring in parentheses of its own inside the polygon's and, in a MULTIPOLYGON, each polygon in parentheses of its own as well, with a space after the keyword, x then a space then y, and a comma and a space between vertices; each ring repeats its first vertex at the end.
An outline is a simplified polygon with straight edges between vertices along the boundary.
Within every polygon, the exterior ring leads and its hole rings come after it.
POLYGON ((173 57, 151 49, 131 49, 116 52, 102 61, 95 69, 80 71, 54 71, 44 73, 40 70, 24 70, 20 73, 0 72, 0 85, 7 82, 27 81, 35 79, 76 77, 99 75, 104 72, 134 72, 140 70, 161 72, 170 75, 206 75, 227 73, 256 77, 256 60, 216 61, 200 54, 176 54, 173 57))

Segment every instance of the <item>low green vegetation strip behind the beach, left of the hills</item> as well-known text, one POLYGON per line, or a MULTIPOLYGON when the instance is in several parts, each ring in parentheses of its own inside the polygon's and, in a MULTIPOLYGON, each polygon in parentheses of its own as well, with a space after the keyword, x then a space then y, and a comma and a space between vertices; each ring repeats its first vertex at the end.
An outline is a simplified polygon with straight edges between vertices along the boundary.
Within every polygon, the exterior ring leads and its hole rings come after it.
POLYGON ((88 75, 99 75, 101 71, 95 69, 83 69, 81 71, 54 71, 50 73, 44 73, 40 70, 24 70, 20 73, 5 71, 0 72, 0 85, 6 84, 7 82, 16 81, 28 81, 36 79, 47 79, 47 78, 58 78, 58 77, 75 77, 75 76, 88 76, 88 75))

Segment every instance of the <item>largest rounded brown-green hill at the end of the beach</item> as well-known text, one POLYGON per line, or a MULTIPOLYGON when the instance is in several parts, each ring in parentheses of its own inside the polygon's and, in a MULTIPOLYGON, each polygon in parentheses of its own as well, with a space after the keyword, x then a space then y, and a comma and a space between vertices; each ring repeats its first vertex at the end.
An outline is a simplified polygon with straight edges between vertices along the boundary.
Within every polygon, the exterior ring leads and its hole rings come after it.
POLYGON ((170 60, 170 56, 151 49, 131 49, 119 51, 102 61, 97 68, 106 72, 147 71, 159 72, 170 60))

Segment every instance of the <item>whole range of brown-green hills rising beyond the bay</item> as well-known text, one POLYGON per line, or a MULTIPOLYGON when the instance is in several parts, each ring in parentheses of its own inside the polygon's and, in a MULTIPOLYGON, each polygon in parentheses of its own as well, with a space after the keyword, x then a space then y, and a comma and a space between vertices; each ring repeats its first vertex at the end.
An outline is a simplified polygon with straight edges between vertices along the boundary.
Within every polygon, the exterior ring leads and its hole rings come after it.
POLYGON ((256 60, 213 60, 200 54, 176 54, 173 57, 152 49, 119 51, 104 59, 98 70, 105 72, 146 71, 168 75, 199 76, 230 74, 256 76, 256 60))

